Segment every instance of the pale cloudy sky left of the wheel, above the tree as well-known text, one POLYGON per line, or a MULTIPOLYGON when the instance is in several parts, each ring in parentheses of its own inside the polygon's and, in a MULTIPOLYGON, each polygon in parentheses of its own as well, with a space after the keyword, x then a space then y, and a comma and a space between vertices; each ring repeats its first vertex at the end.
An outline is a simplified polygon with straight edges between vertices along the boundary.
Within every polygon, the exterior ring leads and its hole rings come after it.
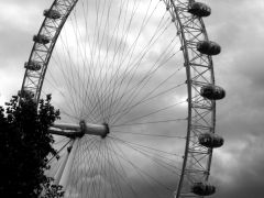
POLYGON ((30 56, 32 37, 38 31, 43 8, 48 8, 48 1, 1 1, 0 8, 0 105, 3 105, 21 89, 23 65, 30 56))

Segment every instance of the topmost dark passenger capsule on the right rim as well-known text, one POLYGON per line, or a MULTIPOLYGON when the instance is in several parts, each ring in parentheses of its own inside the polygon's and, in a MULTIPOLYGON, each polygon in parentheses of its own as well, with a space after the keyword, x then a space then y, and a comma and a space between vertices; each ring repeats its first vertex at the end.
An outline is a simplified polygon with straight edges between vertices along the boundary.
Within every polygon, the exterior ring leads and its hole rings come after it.
POLYGON ((194 2, 194 3, 190 4, 190 7, 188 9, 188 12, 194 14, 194 15, 197 15, 199 18, 202 18, 202 16, 210 15, 211 14, 211 9, 210 9, 210 7, 208 7, 205 3, 194 2))

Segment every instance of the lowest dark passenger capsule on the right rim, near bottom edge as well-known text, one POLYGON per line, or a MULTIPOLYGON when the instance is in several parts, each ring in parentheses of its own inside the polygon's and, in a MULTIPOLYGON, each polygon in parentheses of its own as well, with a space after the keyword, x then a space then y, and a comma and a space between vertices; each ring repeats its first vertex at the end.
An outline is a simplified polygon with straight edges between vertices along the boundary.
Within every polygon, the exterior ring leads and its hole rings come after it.
POLYGON ((216 187, 206 183, 195 183, 191 191, 198 196, 210 196, 216 193, 216 187))

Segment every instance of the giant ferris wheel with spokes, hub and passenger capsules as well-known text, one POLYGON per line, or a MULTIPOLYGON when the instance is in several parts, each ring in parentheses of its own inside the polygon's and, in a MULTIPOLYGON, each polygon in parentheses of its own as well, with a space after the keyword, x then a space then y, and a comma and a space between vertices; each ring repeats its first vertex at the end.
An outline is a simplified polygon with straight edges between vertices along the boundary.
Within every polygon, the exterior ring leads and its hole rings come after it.
POLYGON ((194 0, 55 0, 34 35, 21 97, 52 94, 59 157, 48 175, 65 197, 210 196, 212 56, 194 0))

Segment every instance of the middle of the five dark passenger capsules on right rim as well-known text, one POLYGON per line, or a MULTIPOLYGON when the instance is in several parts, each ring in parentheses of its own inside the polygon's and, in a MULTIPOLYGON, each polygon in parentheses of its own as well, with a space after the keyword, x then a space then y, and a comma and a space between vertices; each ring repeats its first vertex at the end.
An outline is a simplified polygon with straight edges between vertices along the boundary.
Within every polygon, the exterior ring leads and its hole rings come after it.
POLYGON ((209 100, 221 100, 226 97, 226 91, 221 87, 207 85, 201 87, 200 96, 209 100))

